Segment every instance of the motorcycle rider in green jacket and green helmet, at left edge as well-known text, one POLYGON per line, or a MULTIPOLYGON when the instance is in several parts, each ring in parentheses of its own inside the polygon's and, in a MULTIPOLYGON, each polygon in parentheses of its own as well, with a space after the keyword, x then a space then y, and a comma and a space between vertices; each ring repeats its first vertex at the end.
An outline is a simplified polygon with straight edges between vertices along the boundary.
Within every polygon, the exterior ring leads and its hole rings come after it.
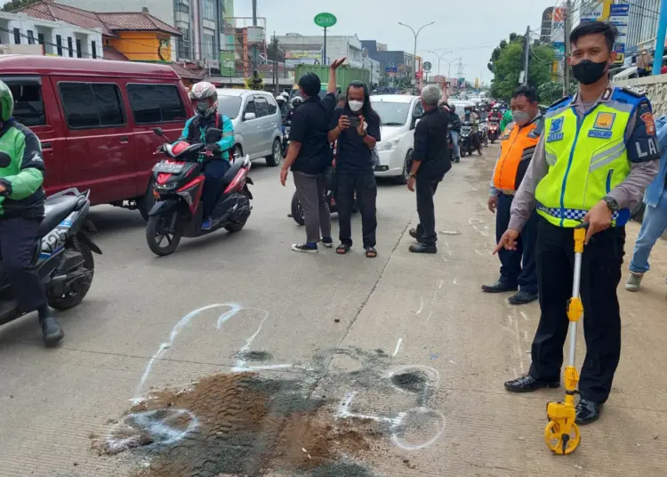
POLYGON ((20 311, 37 311, 47 346, 65 336, 52 317, 33 252, 44 219, 44 158, 37 136, 12 117, 12 90, 0 81, 0 255, 20 311))

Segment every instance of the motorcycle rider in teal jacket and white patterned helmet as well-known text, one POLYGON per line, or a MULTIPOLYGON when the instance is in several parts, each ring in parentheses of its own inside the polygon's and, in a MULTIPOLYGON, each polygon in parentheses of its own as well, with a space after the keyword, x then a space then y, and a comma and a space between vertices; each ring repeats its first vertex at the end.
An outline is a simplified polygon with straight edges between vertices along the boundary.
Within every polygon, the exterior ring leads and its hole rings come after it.
POLYGON ((229 150, 234 147, 234 125, 229 117, 218 113, 218 92, 215 86, 206 81, 192 86, 190 99, 194 103, 197 114, 190 117, 185 123, 179 141, 204 142, 206 131, 216 128, 222 130, 220 141, 206 145, 204 166, 204 192, 202 202, 204 207, 204 222, 202 230, 211 230, 213 209, 222 195, 222 178, 229 171, 229 150))

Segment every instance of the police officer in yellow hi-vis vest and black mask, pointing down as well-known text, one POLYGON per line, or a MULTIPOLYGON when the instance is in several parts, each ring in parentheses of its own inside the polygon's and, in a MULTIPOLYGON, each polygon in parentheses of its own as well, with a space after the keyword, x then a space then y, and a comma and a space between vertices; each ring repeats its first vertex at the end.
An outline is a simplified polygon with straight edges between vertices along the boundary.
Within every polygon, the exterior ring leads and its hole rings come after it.
POLYGON ((601 21, 582 23, 572 31, 570 64, 579 91, 548 110, 544 133, 511 207, 510 227, 496 248, 516 249, 518 234, 536 206, 542 316, 528 376, 505 387, 513 392, 555 388, 572 293, 573 229, 590 224, 581 276, 587 352, 577 424, 597 420, 611 391, 621 355, 616 287, 623 263, 623 217, 641 200, 660 158, 650 102, 609 83, 615 38, 615 28, 601 21))

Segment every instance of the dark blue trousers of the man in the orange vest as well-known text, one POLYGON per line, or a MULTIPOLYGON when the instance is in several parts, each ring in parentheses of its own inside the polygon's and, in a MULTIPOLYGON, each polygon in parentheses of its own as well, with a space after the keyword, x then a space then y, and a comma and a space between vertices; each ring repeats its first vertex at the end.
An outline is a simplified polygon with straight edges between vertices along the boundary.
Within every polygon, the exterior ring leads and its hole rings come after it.
MULTIPOLYGON (((498 208, 495 211, 495 238, 499 242, 502 234, 510 225, 510 207, 514 196, 498 195, 498 208)), ((518 236, 517 249, 498 252, 501 261, 500 281, 507 287, 518 285, 522 292, 537 295, 537 267, 535 265, 535 245, 537 243, 537 213, 533 211, 518 236)))

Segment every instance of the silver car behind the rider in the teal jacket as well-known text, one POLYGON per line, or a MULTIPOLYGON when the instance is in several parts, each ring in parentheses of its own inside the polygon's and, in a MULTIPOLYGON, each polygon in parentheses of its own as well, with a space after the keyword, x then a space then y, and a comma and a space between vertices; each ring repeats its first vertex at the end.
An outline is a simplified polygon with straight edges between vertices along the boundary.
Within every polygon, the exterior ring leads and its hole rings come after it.
POLYGON ((273 94, 244 89, 218 89, 218 111, 234 124, 235 159, 266 158, 267 166, 283 160, 283 127, 273 94))

